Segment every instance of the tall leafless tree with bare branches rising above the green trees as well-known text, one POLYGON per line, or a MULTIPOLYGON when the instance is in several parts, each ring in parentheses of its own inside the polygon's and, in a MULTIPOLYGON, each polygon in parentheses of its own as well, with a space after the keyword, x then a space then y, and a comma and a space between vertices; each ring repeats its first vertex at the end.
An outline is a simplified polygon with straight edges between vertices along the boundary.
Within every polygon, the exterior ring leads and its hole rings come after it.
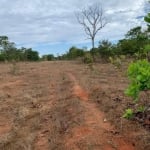
POLYGON ((87 9, 82 9, 76 13, 76 18, 84 27, 88 38, 92 40, 92 48, 94 48, 96 34, 107 24, 102 6, 94 4, 87 9))

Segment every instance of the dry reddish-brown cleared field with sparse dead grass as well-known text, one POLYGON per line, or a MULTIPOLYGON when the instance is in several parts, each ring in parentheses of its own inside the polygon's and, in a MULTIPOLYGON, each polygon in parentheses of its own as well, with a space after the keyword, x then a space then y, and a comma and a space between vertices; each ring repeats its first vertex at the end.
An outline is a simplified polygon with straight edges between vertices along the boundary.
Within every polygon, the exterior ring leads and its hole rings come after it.
MULTIPOLYGON (((0 68, 0 150, 149 150, 149 114, 144 123, 122 118, 134 105, 124 95, 127 64, 0 68)), ((142 93, 139 103, 149 104, 149 98, 142 93)))

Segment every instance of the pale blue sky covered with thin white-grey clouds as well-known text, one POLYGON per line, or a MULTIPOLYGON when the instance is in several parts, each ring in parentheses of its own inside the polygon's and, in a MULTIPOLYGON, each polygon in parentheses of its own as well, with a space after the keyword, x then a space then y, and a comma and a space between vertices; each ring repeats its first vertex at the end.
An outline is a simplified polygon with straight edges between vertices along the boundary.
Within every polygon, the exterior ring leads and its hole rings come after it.
POLYGON ((102 5, 108 20, 96 35, 96 44, 123 38, 131 28, 144 25, 143 17, 150 11, 147 0, 0 0, 0 35, 40 55, 61 55, 71 46, 90 49, 75 12, 94 3, 102 5))

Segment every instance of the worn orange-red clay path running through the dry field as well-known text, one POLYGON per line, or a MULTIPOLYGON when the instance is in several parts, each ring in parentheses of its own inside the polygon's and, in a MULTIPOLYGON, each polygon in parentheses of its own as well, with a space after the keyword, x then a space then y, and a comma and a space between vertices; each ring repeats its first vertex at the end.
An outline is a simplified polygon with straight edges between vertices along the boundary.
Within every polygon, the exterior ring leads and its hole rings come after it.
MULTIPOLYGON (((79 150, 75 143, 92 137, 91 145, 97 145, 97 149, 103 150, 135 150, 134 146, 126 139, 117 136, 109 136, 109 132, 115 130, 114 127, 105 120, 105 114, 97 109, 95 104, 88 101, 88 93, 78 84, 72 73, 68 74, 74 82, 73 94, 83 100, 86 109, 85 122, 83 126, 72 129, 72 137, 66 140, 66 147, 79 150)), ((88 147, 85 147, 88 149, 88 147)), ((95 148, 94 148, 95 149, 95 148)))

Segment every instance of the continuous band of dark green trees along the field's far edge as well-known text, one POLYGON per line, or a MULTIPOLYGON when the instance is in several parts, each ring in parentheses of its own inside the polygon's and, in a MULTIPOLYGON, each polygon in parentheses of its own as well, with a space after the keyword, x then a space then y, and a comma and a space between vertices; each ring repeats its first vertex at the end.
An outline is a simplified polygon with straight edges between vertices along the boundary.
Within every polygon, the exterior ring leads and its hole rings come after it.
POLYGON ((0 36, 0 61, 39 61, 39 60, 74 60, 77 58, 91 57, 93 61, 109 61, 109 57, 125 55, 128 57, 148 58, 150 60, 150 26, 142 30, 141 26, 130 29, 125 38, 117 43, 101 40, 97 47, 86 48, 71 47, 65 54, 54 57, 53 54, 43 55, 32 48, 16 48, 15 43, 10 42, 7 36, 0 36), (90 55, 90 56, 89 56, 90 55))

